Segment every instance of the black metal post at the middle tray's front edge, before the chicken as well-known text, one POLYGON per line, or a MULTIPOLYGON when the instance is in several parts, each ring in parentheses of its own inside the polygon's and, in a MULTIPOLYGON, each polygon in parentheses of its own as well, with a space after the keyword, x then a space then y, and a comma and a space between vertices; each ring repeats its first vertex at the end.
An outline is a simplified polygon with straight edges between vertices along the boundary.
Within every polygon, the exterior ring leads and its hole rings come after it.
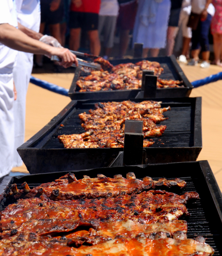
POLYGON ((143 121, 126 120, 123 165, 140 165, 143 161, 143 121))

